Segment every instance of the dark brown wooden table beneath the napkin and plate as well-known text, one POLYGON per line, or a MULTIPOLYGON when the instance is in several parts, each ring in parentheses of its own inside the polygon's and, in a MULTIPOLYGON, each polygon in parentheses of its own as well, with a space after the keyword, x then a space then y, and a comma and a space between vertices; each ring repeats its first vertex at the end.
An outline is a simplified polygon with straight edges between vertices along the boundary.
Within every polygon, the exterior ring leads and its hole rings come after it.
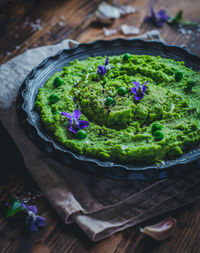
MULTIPOLYGON (((92 14, 100 0, 35 0, 13 1, 0 7, 0 61, 24 52, 27 48, 54 44, 71 38, 79 42, 91 42, 104 38, 101 26, 92 24, 92 14), (39 20, 39 21, 37 21, 39 20), (26 25, 29 21, 34 25, 26 25), (38 22, 38 23, 37 23, 38 22), (42 24, 42 27, 35 24, 42 24)), ((141 32, 151 29, 142 25, 147 8, 152 4, 156 9, 167 8, 172 13, 184 10, 185 18, 200 23, 199 0, 127 0, 139 9, 137 14, 130 14, 117 20, 112 27, 127 23, 141 28, 141 32)), ((169 44, 185 44, 193 53, 200 55, 200 39, 192 39, 190 34, 183 35, 177 27, 165 25, 160 29, 161 36, 169 44)), ((118 33, 116 36, 123 37, 118 33)), ((28 174, 15 144, 1 126, 1 162, 0 190, 1 200, 6 191, 17 195, 37 191, 37 186, 28 174)), ((200 203, 171 212, 178 220, 175 234, 162 243, 140 234, 138 227, 129 228, 98 243, 91 242, 75 225, 65 225, 49 205, 47 200, 37 198, 31 204, 39 207, 40 213, 47 218, 47 226, 37 233, 25 233, 17 224, 0 217, 0 252, 71 252, 71 253, 192 253, 200 252, 200 203)), ((165 217, 165 216, 163 216, 165 217)), ((163 218, 152 219, 150 223, 163 218)))

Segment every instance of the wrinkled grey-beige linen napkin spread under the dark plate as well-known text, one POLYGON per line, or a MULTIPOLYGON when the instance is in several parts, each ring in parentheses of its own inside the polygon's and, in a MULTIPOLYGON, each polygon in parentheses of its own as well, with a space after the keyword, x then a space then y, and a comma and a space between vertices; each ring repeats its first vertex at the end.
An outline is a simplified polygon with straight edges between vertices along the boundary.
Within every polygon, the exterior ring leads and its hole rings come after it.
MULTIPOLYGON (((150 32, 143 38, 155 39, 156 33, 150 32)), ((17 91, 33 67, 59 50, 69 48, 69 43, 77 44, 64 40, 53 46, 30 49, 0 66, 1 121, 21 151, 30 174, 64 222, 76 222, 91 240, 98 241, 200 199, 197 168, 191 168, 192 173, 186 178, 154 182, 101 178, 51 159, 24 134, 16 115, 17 91)))

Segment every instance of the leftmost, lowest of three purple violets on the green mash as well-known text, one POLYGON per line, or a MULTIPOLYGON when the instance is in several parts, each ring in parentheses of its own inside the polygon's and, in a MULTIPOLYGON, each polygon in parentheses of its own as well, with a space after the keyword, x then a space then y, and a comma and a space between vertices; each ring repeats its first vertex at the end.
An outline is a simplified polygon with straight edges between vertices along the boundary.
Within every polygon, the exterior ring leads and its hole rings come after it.
POLYGON ((81 112, 78 109, 74 110, 72 114, 67 112, 61 112, 61 115, 69 119, 69 131, 73 132, 74 134, 76 134, 79 129, 84 129, 90 124, 86 120, 79 120, 81 112))

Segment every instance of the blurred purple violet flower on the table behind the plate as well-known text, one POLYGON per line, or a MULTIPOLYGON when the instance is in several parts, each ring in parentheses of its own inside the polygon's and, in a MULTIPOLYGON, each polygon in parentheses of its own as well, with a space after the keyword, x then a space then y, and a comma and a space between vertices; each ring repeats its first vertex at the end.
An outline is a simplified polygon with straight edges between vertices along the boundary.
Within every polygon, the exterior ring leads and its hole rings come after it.
POLYGON ((151 23, 156 25, 157 27, 162 27, 165 22, 168 21, 168 15, 164 9, 160 9, 157 13, 155 13, 153 7, 150 7, 150 16, 146 16, 144 18, 144 22, 151 23))

